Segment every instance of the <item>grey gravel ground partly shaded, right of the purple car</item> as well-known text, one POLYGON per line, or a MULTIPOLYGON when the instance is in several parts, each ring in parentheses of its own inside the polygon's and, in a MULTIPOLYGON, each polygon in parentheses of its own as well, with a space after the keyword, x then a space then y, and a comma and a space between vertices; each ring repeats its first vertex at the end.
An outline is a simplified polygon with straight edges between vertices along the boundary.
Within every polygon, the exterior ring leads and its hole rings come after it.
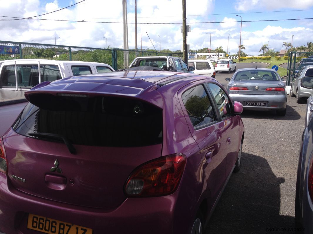
POLYGON ((284 117, 243 112, 241 169, 228 181, 204 233, 296 233, 295 185, 305 107, 288 96, 284 117))

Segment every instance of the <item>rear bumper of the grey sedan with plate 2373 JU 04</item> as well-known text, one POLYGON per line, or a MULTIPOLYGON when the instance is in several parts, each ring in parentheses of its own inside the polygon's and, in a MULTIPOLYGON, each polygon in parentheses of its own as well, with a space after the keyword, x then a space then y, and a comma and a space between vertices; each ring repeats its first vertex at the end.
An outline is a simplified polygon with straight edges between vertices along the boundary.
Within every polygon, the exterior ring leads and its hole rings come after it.
POLYGON ((284 110, 287 106, 287 95, 243 95, 230 94, 233 101, 240 102, 244 110, 284 110), (247 102, 266 102, 266 106, 247 106, 247 102))

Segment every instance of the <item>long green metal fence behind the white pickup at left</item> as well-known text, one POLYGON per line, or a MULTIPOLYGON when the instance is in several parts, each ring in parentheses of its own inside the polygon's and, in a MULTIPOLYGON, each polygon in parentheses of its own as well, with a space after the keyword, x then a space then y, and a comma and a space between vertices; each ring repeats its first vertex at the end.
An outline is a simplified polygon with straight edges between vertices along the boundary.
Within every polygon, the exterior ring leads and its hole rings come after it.
POLYGON ((138 56, 175 56, 183 53, 160 53, 157 51, 102 49, 80 46, 63 46, 28 42, 0 41, 0 60, 52 59, 69 61, 101 62, 115 70, 129 67, 138 56))

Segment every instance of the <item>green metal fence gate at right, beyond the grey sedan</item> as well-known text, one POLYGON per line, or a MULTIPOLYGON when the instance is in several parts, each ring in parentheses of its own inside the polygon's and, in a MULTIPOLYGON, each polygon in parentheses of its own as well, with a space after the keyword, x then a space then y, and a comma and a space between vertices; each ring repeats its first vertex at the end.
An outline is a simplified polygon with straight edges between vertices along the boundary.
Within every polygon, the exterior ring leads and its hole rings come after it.
POLYGON ((287 85, 291 85, 295 71, 299 67, 299 62, 302 58, 307 58, 308 56, 313 56, 313 52, 297 52, 291 51, 288 57, 288 67, 287 67, 287 85))

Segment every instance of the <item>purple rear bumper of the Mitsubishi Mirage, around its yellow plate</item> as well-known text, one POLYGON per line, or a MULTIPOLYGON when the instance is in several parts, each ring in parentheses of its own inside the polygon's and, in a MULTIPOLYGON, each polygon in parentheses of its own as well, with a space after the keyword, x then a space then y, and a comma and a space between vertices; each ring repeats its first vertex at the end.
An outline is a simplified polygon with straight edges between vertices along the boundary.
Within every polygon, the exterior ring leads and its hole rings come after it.
MULTIPOLYGON (((27 228, 28 213, 93 229, 93 233, 175 233, 174 193, 165 197, 127 198, 116 209, 73 206, 22 193, 0 173, 0 230, 6 234, 39 233, 27 228)), ((184 224, 185 230, 188 224, 184 224)), ((181 230, 177 233, 182 233, 181 230)))

